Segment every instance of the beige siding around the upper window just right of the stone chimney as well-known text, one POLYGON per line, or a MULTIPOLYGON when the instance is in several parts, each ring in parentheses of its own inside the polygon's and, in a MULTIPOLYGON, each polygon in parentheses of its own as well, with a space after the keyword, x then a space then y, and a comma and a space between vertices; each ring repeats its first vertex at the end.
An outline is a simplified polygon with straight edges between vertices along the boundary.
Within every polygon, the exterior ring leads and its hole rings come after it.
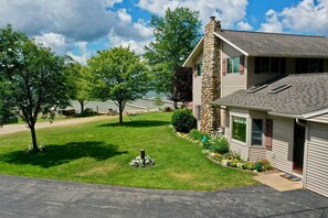
MULTIPOLYGON (((243 55, 241 52, 232 47, 231 45, 222 42, 222 58, 235 57, 243 55)), ((222 66, 222 65, 221 65, 222 66)), ((222 70, 221 70, 222 72, 222 70)), ((237 73, 228 74, 221 78, 221 97, 228 96, 240 89, 246 89, 246 72, 247 72, 247 61, 245 57, 244 74, 240 75, 237 73)))

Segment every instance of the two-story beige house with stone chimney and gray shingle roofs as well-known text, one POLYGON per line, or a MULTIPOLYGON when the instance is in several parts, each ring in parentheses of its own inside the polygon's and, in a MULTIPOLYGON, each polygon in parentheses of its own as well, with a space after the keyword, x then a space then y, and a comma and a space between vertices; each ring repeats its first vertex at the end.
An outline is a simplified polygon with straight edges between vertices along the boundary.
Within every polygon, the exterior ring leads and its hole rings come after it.
POLYGON ((268 159, 328 197, 328 39, 221 30, 186 61, 198 127, 224 127, 244 160, 268 159))

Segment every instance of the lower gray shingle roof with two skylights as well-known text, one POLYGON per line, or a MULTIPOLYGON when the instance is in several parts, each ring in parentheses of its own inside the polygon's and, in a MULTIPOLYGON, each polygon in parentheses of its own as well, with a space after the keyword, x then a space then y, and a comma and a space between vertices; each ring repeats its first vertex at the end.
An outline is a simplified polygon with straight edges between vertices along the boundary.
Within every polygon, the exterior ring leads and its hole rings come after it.
POLYGON ((246 107, 285 115, 304 115, 328 108, 328 74, 293 74, 268 80, 267 87, 247 92, 237 90, 213 103, 246 107), (269 91, 281 85, 292 85, 277 94, 269 91))

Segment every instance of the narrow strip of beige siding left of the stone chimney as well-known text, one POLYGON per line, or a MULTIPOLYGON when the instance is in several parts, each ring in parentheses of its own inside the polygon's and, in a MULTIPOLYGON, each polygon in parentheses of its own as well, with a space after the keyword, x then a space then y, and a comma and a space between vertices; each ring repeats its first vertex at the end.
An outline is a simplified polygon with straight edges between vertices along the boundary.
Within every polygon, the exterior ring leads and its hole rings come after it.
MULTIPOLYGON (((194 64, 201 64, 203 59, 203 54, 201 53, 194 61, 194 64)), ((193 69, 194 70, 194 69, 193 69)), ((193 105, 193 116, 197 116, 197 106, 201 105, 201 91, 202 90, 202 76, 192 75, 192 105, 193 105)), ((198 129, 200 129, 200 121, 197 121, 198 129)))

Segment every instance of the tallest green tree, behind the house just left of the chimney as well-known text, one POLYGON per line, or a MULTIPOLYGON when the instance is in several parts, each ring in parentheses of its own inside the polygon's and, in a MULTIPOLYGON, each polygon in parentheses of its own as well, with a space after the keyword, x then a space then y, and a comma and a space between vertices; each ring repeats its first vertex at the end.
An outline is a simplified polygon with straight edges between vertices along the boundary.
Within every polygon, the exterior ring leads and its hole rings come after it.
MULTIPOLYGON (((168 9, 163 18, 152 17, 155 42, 146 46, 145 57, 152 72, 157 92, 170 94, 177 102, 182 100, 177 74, 201 36, 199 12, 188 8, 168 9)), ((190 75, 191 77, 191 75, 190 75)))

